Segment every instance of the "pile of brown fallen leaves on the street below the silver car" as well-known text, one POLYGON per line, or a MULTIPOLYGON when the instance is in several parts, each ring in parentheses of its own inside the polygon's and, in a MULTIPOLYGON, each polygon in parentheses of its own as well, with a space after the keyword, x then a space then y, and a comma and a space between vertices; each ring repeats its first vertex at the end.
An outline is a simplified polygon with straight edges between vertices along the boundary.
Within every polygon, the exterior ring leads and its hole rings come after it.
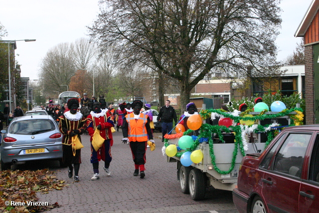
MULTIPOLYGON (((67 186, 65 181, 60 181, 54 172, 48 169, 38 171, 2 171, 0 172, 0 212, 29 213, 49 211, 59 207, 58 203, 47 206, 32 206, 38 202, 36 192, 47 194, 49 191, 61 190, 67 186), (19 206, 5 205, 5 202, 22 202, 19 206), (27 206, 27 202, 31 203, 27 206)), ((11 203, 10 203, 11 204, 11 203)))

